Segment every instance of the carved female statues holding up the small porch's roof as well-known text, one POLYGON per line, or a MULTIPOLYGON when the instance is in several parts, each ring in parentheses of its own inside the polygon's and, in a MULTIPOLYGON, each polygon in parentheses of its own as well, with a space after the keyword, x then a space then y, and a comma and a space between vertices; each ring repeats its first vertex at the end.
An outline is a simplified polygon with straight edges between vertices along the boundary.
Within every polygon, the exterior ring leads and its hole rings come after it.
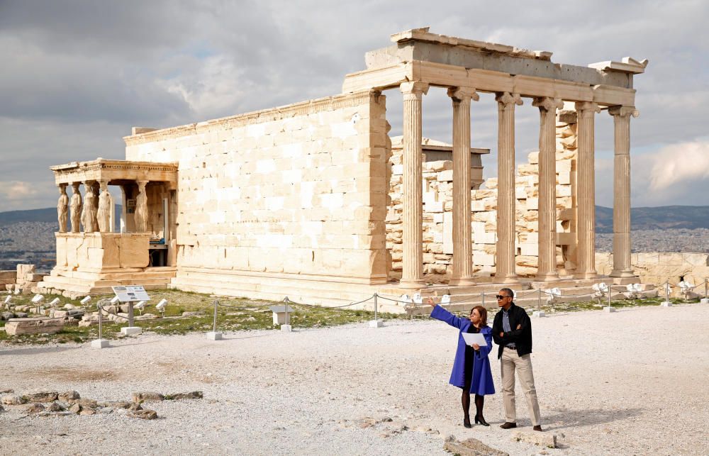
MULTIPOLYGON (((135 228, 138 233, 147 231, 147 180, 137 181, 138 196, 135 201, 135 228)), ((84 181, 86 196, 82 199, 79 185, 82 182, 72 182, 72 198, 67 195, 67 185, 59 184, 59 201, 57 201, 57 221, 59 232, 67 233, 67 219, 71 218, 71 232, 79 233, 80 226, 84 233, 110 233, 111 227, 111 194, 108 192, 108 181, 84 181)))

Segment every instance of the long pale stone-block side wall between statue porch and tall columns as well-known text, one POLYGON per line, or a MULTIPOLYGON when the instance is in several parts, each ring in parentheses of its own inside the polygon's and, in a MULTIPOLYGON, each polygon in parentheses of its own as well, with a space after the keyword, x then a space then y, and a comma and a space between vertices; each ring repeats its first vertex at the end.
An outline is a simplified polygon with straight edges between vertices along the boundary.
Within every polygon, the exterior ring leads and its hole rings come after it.
POLYGON ((179 162, 185 268, 386 281, 386 105, 359 92, 125 138, 179 162))

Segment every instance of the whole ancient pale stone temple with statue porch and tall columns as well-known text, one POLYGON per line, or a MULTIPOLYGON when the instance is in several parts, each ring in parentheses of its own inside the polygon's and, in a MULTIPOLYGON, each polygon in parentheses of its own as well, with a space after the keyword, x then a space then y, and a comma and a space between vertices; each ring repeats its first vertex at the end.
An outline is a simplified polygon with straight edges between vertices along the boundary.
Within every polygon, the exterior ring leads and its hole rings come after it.
POLYGON ((551 52, 428 28, 391 41, 367 53, 367 69, 347 74, 341 94, 134 128, 125 160, 52 167, 72 226, 61 226, 58 207, 57 267, 40 286, 100 292, 150 279, 144 283, 155 287, 333 304, 375 291, 635 280, 630 117, 633 76, 647 61, 564 65, 551 52), (452 145, 422 138, 430 87, 447 89, 452 145), (403 94, 395 143, 387 90, 403 94), (497 101, 498 165, 481 189, 480 155, 489 150, 471 149, 470 113, 484 92, 497 101), (515 109, 523 104, 539 111, 540 148, 517 168, 515 109), (596 272, 593 235, 594 119, 602 111, 615 121, 610 277, 596 272), (106 221, 108 185, 123 194, 120 233, 106 221))

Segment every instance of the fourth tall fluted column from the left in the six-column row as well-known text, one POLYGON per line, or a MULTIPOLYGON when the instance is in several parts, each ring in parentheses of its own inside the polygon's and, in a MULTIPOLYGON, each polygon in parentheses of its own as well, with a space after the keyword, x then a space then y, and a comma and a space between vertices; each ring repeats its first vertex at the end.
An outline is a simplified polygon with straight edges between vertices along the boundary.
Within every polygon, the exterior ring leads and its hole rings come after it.
POLYGON ((557 280, 557 109, 564 103, 548 96, 534 99, 539 108, 539 260, 537 280, 557 280))

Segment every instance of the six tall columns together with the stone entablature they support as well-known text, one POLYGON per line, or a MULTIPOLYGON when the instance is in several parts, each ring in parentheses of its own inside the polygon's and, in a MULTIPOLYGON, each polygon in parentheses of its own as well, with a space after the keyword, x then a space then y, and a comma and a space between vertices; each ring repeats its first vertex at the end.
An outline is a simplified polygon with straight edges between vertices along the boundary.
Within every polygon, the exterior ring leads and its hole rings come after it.
POLYGON ((470 106, 478 92, 498 102, 498 211, 495 282, 515 283, 515 106, 531 99, 540 111, 538 267, 535 279, 555 281, 557 208, 555 122, 564 101, 578 113, 576 269, 574 278, 594 279, 594 118, 601 109, 615 120, 614 269, 619 281, 630 266, 630 116, 635 110, 634 74, 647 60, 600 62, 579 67, 551 61, 551 52, 435 35, 428 28, 392 35, 389 48, 368 52, 368 69, 348 74, 343 92, 400 89, 403 94, 403 274, 401 287, 425 287, 422 249, 422 99, 431 86, 445 87, 453 108, 453 277, 451 285, 474 284, 471 265, 470 106))

